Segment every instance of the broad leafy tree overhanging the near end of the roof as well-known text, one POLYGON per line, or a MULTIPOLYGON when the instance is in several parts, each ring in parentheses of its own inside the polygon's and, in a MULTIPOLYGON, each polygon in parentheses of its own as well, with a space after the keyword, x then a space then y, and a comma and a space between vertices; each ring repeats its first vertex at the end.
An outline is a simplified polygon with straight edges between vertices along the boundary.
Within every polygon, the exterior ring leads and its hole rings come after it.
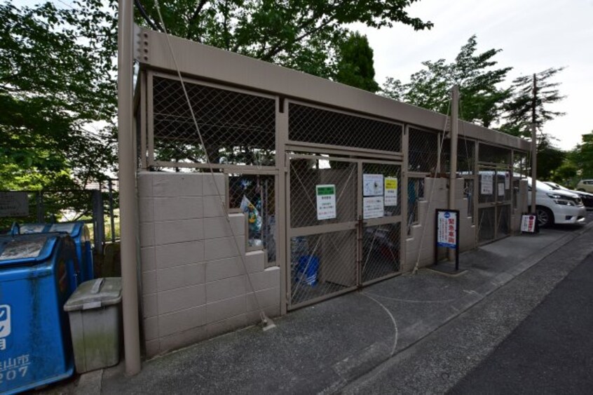
MULTIPOLYGON (((430 29, 408 15, 418 0, 163 0, 165 27, 175 36, 329 78, 346 25, 403 23, 430 29)), ((153 1, 136 1, 138 23, 162 30, 153 1), (142 7, 144 6, 144 7, 142 7)))

